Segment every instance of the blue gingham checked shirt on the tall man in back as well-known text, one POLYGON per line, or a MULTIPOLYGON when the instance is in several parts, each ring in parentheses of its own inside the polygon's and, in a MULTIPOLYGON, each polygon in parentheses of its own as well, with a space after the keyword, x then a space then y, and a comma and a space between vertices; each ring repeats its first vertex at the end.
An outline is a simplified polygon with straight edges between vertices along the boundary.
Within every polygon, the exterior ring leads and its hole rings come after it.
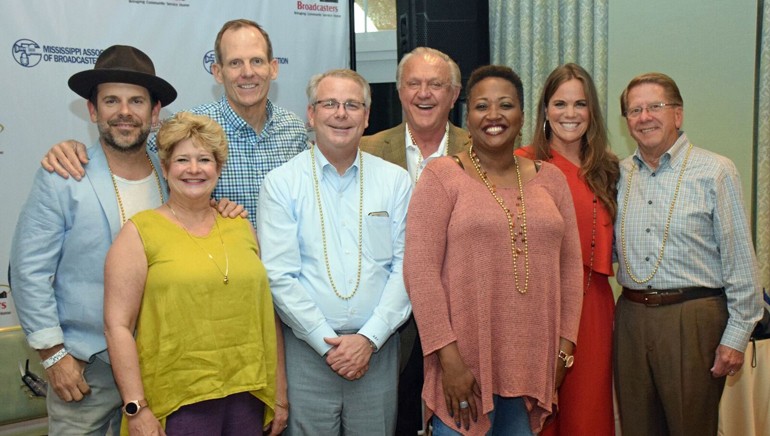
MULTIPOLYGON (((227 198, 249 212, 256 226, 259 189, 267 173, 307 149, 307 129, 294 113, 267 101, 267 117, 261 132, 256 132, 222 96, 219 101, 192 108, 190 112, 207 115, 225 131, 228 143, 227 163, 222 170, 213 197, 227 198)), ((157 152, 155 135, 148 142, 157 152)))

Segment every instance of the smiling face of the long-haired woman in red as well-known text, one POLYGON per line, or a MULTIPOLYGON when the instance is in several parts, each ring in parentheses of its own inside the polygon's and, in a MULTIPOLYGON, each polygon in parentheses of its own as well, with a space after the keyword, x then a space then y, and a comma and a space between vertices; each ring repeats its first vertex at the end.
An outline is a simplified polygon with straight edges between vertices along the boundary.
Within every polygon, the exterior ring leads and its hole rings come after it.
POLYGON ((551 126, 552 147, 580 147, 591 119, 583 82, 570 79, 562 83, 548 101, 546 119, 551 126))

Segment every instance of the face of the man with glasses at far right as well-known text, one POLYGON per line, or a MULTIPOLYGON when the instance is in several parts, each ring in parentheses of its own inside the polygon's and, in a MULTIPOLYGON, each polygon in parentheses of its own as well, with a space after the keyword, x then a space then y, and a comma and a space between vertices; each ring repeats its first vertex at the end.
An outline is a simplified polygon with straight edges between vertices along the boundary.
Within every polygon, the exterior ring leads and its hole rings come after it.
MULTIPOLYGON (((642 83, 628 91, 627 102, 628 108, 636 108, 670 103, 670 99, 662 86, 642 83)), ((642 110, 638 117, 626 118, 626 123, 645 160, 657 161, 676 142, 683 118, 681 106, 667 106, 658 113, 642 110)))

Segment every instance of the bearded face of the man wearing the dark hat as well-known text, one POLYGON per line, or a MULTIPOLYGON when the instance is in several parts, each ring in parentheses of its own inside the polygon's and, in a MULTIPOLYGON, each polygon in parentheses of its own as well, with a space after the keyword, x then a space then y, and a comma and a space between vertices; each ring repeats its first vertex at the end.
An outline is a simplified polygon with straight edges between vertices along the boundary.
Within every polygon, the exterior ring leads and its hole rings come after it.
POLYGON ((147 88, 102 83, 95 101, 96 105, 88 101, 88 112, 99 129, 102 144, 124 153, 142 150, 160 113, 160 103, 153 106, 147 88))

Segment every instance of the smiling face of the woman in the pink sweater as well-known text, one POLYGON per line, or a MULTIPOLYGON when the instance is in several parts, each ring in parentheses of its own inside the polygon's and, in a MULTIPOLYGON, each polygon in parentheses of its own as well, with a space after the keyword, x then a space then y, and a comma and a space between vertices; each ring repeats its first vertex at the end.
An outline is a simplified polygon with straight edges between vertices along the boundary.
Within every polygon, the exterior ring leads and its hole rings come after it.
POLYGON ((468 131, 474 148, 512 152, 523 123, 524 112, 511 82, 488 77, 473 86, 468 96, 468 131))

